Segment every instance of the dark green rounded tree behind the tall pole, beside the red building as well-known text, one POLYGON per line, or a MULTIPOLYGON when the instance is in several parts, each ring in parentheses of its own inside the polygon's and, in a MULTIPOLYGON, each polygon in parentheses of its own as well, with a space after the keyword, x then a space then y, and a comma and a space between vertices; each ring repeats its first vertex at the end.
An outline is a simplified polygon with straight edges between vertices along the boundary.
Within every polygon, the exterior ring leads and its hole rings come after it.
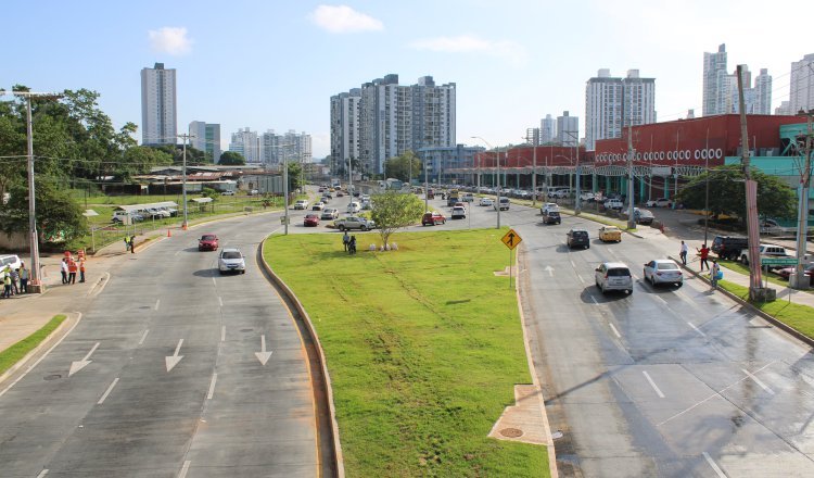
MULTIPOLYGON (((752 179, 758 183, 758 210, 761 215, 793 217, 794 193, 779 178, 752 168, 752 179)), ((704 209, 707 179, 710 185, 709 210, 713 216, 726 214, 746 222, 746 188, 739 165, 721 166, 709 171, 682 189, 677 199, 685 207, 704 209)))

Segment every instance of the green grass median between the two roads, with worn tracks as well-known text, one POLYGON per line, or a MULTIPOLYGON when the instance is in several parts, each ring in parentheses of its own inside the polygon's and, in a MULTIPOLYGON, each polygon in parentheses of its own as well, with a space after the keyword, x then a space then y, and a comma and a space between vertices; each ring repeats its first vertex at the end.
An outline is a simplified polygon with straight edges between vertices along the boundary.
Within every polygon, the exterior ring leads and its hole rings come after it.
POLYGON ((549 476, 544 446, 489 439, 531 377, 505 230, 268 239, 265 260, 296 292, 331 374, 347 476, 549 476))

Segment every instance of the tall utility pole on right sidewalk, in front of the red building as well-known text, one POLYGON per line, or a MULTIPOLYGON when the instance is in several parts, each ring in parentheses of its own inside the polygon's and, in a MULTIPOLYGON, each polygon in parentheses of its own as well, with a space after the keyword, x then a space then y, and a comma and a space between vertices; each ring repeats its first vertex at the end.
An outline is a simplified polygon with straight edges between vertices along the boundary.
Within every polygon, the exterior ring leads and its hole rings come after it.
POLYGON ((768 299, 768 290, 761 287, 761 259, 759 253, 760 229, 758 227, 758 184, 752 179, 749 162, 749 134, 747 133, 746 102, 743 101, 742 65, 738 65, 738 105, 740 109, 740 151, 743 177, 746 178, 747 232, 749 238, 749 298, 768 299))

